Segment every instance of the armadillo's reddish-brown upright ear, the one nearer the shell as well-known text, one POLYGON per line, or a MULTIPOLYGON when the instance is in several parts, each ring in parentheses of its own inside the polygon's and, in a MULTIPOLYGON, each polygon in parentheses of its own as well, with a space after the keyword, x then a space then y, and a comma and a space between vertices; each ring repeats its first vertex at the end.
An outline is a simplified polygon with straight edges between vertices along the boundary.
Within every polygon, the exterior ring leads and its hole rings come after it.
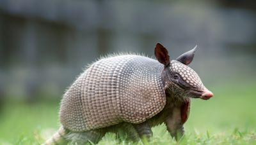
POLYGON ((162 64, 164 64, 164 66, 168 66, 170 64, 170 57, 168 55, 168 51, 166 50, 166 48, 164 48, 163 45, 161 45, 160 43, 156 44, 156 48, 155 48, 155 56, 156 59, 161 62, 162 64))

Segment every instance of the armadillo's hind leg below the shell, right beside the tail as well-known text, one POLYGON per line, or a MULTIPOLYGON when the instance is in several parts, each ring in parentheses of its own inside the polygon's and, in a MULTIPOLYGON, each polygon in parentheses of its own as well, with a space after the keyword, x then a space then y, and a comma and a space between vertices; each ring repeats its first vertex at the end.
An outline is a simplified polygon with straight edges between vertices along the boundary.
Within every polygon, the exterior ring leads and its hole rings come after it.
POLYGON ((87 142, 97 144, 105 133, 106 131, 103 129, 89 130, 86 132, 70 132, 67 135, 67 139, 72 144, 86 144, 87 142))

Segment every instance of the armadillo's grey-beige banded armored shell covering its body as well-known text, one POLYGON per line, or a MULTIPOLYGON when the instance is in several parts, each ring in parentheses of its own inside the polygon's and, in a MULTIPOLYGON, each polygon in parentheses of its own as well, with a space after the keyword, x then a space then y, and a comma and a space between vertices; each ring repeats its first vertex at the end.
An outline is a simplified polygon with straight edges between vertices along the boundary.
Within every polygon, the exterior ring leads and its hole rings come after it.
POLYGON ((84 132, 152 118, 166 102, 162 71, 159 62, 138 55, 95 62, 65 93, 60 108, 62 125, 84 132))

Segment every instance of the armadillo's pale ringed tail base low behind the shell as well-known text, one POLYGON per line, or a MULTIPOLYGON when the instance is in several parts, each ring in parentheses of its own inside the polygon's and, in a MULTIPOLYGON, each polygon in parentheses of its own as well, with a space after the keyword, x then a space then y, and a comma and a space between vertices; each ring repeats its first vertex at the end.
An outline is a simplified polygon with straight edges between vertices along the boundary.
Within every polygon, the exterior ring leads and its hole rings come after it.
POLYGON ((65 139, 67 134, 68 130, 61 126, 58 132, 52 135, 50 139, 47 139, 47 141, 45 141, 43 145, 67 144, 68 142, 65 139))

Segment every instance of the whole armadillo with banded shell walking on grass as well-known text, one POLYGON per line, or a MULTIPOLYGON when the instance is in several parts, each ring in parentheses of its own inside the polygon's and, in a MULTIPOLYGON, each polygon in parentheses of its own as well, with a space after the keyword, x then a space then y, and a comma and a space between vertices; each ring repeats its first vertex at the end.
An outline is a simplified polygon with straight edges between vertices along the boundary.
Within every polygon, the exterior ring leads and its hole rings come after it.
POLYGON ((190 98, 209 99, 212 93, 187 65, 195 48, 170 61, 157 43, 156 59, 119 55, 88 67, 67 90, 60 107, 60 130, 45 144, 60 141, 97 143, 106 132, 123 132, 144 143, 151 127, 165 123, 179 139, 188 119, 190 98), (159 63, 160 62, 160 63, 159 63))

